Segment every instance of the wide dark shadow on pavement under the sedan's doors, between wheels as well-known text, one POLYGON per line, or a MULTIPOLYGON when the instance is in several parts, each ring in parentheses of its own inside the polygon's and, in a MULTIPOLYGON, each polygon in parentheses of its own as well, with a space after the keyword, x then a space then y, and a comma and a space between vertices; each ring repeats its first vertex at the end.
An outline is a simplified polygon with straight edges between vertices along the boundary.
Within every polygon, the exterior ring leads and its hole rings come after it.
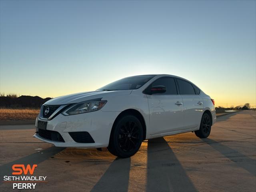
POLYGON ((197 191, 164 138, 148 140, 148 192, 197 191))

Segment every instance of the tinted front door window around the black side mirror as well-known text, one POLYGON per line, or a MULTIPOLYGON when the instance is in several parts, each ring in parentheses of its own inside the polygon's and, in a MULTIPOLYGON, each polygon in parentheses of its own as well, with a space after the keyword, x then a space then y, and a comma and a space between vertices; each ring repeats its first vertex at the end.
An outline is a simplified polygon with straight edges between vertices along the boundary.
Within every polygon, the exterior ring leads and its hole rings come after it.
POLYGON ((158 93, 158 95, 159 94, 162 94, 162 95, 177 95, 177 88, 176 88, 174 78, 170 78, 170 77, 159 78, 151 84, 150 88, 153 87, 153 86, 160 86, 160 85, 166 87, 166 92, 165 93, 158 93))

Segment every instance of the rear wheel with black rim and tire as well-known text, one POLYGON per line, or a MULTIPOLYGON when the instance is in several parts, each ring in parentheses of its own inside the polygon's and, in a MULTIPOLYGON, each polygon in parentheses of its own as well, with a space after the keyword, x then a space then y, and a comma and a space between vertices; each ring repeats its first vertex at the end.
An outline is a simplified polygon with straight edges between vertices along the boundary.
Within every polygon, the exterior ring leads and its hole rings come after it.
POLYGON ((212 121, 209 114, 204 113, 201 119, 200 129, 195 131, 196 136, 200 138, 207 138, 210 135, 212 121))

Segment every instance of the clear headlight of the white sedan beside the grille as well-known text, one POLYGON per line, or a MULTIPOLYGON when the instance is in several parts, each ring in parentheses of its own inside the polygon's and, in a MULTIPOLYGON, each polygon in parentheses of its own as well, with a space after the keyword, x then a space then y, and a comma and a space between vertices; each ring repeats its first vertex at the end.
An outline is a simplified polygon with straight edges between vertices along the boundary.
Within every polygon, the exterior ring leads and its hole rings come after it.
POLYGON ((63 115, 75 115, 99 110, 107 101, 84 101, 76 103, 62 112, 63 115))

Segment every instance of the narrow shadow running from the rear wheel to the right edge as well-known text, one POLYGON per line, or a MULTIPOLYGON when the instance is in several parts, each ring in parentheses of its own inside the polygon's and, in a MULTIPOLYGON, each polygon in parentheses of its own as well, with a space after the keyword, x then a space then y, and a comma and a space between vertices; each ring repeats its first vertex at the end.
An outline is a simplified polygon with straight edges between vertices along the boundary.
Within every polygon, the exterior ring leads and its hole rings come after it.
POLYGON ((210 145, 212 148, 220 152, 226 158, 229 158, 232 162, 236 163, 237 166, 248 171, 250 174, 256 176, 256 160, 245 156, 244 154, 234 150, 226 145, 221 144, 215 140, 209 138, 201 138, 204 142, 210 145))

